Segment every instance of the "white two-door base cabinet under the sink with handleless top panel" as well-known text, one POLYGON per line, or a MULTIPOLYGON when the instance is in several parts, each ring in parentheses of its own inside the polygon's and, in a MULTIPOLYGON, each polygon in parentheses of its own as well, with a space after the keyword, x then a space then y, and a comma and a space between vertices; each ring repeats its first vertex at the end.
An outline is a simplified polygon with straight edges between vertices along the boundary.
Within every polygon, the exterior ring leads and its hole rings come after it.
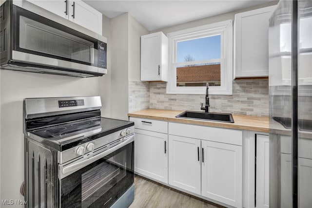
POLYGON ((177 123, 168 132, 169 184, 241 208, 242 132, 177 123))

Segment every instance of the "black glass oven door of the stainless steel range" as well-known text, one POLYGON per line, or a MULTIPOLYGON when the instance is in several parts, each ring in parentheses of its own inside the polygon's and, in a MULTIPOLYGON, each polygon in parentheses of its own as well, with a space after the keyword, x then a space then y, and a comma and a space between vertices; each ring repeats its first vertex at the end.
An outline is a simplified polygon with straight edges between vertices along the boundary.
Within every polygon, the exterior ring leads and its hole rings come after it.
POLYGON ((134 184, 133 137, 127 145, 60 179, 60 206, 111 207, 134 184))

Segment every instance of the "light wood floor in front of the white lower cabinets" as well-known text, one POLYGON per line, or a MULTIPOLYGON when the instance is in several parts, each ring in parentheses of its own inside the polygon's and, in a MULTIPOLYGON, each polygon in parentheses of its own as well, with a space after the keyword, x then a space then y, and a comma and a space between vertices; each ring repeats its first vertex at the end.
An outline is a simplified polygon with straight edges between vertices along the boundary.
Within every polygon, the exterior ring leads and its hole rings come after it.
POLYGON ((205 200, 135 176, 135 200, 129 208, 223 208, 205 200))

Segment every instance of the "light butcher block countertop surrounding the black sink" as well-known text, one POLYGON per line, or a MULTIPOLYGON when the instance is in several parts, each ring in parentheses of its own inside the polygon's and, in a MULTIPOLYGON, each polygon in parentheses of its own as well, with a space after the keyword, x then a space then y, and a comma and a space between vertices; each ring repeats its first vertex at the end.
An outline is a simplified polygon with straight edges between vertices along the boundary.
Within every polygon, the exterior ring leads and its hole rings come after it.
POLYGON ((176 115, 182 112, 184 111, 146 109, 134 113, 128 113, 128 116, 169 122, 178 122, 184 124, 227 128, 227 129, 248 130, 255 132, 269 132, 269 117, 267 116, 260 117, 260 116, 233 114, 234 123, 226 123, 217 121, 196 120, 189 118, 176 118, 176 115))

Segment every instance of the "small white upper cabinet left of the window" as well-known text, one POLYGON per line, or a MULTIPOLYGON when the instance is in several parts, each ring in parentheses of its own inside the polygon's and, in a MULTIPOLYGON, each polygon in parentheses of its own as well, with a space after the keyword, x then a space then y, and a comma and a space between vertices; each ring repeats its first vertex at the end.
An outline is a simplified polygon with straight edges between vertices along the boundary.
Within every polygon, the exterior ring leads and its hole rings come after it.
POLYGON ((141 36, 141 81, 168 81, 168 38, 162 32, 141 36))

